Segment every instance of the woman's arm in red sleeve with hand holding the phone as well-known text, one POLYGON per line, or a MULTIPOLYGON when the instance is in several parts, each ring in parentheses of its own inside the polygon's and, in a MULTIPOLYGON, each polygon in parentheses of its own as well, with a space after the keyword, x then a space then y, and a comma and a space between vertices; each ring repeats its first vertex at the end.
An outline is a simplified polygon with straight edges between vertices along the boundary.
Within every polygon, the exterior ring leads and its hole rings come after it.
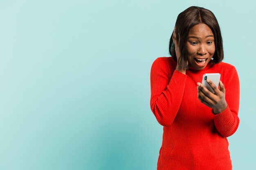
POLYGON ((229 137, 236 132, 239 125, 239 79, 236 68, 232 66, 229 73, 224 77, 224 84, 220 81, 220 89, 211 81, 208 84, 214 94, 207 90, 202 84, 198 83, 198 99, 206 106, 213 108, 214 124, 216 129, 223 137, 229 137))

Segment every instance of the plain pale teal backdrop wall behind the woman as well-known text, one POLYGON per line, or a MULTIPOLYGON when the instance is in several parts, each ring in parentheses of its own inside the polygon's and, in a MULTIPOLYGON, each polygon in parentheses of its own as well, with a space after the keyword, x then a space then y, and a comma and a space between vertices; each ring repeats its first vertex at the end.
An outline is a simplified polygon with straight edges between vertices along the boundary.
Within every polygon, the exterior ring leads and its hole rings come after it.
POLYGON ((0 1, 0 169, 155 170, 150 68, 177 15, 213 11, 240 77, 233 170, 255 167, 255 1, 0 1))

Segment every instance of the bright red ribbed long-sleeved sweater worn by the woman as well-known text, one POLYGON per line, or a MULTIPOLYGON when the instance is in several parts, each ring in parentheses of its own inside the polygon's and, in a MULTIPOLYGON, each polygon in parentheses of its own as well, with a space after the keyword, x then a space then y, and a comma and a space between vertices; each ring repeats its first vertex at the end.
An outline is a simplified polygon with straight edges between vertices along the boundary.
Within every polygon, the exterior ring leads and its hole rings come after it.
POLYGON ((157 170, 231 170, 227 137, 239 124, 239 79, 236 68, 220 62, 200 71, 176 71, 172 57, 159 57, 151 67, 150 108, 164 126, 157 170), (217 115, 198 99, 204 73, 220 73, 227 108, 217 115))

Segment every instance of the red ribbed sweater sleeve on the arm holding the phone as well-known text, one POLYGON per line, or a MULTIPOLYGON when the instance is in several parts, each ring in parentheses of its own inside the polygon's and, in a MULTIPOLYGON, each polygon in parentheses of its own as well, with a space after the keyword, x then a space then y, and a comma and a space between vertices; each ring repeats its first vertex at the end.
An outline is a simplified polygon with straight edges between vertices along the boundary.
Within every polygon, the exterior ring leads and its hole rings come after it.
MULTIPOLYGON (((238 109, 239 109, 239 95, 240 85, 236 68, 233 66, 227 77, 224 87, 226 89, 225 99, 227 101, 227 108, 214 117, 214 124, 223 137, 233 135, 239 125, 238 109)), ((224 82, 224 81, 222 81, 224 82)))

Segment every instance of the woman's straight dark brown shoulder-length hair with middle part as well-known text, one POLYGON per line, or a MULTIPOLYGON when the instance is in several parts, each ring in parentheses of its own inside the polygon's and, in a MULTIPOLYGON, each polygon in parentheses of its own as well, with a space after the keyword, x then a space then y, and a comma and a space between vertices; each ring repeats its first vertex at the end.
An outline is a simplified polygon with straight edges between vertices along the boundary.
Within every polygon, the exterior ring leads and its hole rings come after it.
POLYGON ((213 63, 217 64, 221 62, 224 58, 223 45, 222 45, 222 37, 220 33, 220 26, 215 15, 208 9, 202 7, 189 7, 182 13, 180 13, 176 20, 176 35, 180 35, 179 47, 180 47, 180 60, 177 61, 176 53, 175 53, 175 45, 173 43, 173 33, 170 38, 169 43, 169 53, 173 57, 174 60, 179 62, 179 65, 182 68, 188 69, 187 66, 187 48, 186 48, 186 40, 189 34, 189 30, 195 26, 196 24, 206 24, 210 27, 214 36, 215 43, 215 53, 213 55, 213 63))

